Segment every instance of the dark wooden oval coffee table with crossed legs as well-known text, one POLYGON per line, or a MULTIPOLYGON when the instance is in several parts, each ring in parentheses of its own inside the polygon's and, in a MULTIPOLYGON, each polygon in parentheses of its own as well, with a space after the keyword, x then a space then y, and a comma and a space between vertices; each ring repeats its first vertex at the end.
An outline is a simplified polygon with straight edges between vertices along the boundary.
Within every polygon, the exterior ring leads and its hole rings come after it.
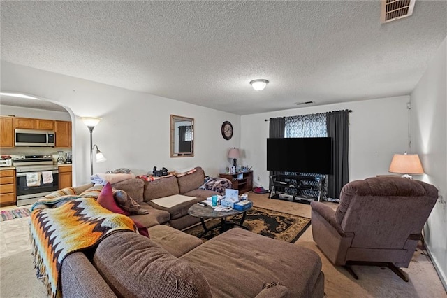
POLYGON ((200 238, 203 235, 207 234, 207 232, 210 232, 212 229, 215 229, 217 227, 221 228, 221 233, 225 232, 226 230, 228 230, 234 226, 248 229, 247 227, 244 227, 243 224, 244 224, 244 220, 245 220, 245 215, 247 215, 247 211, 249 211, 250 209, 251 208, 248 208, 245 211, 238 211, 235 209, 230 209, 229 211, 215 211, 214 207, 203 206, 200 204, 194 204, 193 206, 191 206, 189 208, 188 214, 195 218, 200 218, 200 222, 202 223, 202 227, 203 227, 203 233, 198 236, 200 238), (241 218, 240 222, 233 222, 233 221, 226 220, 226 218, 228 216, 241 214, 241 213, 242 213, 242 218, 241 218), (220 218, 221 222, 208 228, 205 225, 205 219, 207 219, 207 218, 220 218))

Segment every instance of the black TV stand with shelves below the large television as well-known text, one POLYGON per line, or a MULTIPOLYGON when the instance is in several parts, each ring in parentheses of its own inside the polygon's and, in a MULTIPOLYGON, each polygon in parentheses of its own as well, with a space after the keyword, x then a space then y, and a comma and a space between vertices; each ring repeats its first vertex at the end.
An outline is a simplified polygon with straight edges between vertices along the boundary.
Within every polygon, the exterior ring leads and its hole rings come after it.
POLYGON ((310 204, 311 201, 322 201, 325 189, 323 177, 286 174, 271 176, 272 189, 268 197, 305 204, 310 204), (310 195, 302 194, 303 190, 307 190, 310 195))

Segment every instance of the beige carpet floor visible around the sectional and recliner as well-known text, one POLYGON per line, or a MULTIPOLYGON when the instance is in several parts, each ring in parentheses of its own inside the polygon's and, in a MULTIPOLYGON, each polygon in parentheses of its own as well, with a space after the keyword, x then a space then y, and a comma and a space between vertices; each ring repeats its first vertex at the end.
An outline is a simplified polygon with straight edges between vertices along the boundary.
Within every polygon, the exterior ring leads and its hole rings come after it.
MULTIPOLYGON (((311 217, 310 206, 307 204, 267 199, 267 197, 267 194, 249 193, 249 199, 254 201, 254 206, 311 217)), ((338 206, 335 203, 328 203, 328 205, 334 209, 338 206)), ((8 222, 12 224, 15 221, 8 222)), ((27 239, 27 234, 17 235, 17 237, 27 239)), ((310 248, 320 255, 325 274, 325 295, 328 298, 447 297, 430 259, 423 255, 420 249, 414 254, 409 268, 403 269, 410 279, 408 283, 405 283, 388 268, 360 266, 353 267, 360 278, 356 281, 344 268, 335 267, 326 259, 312 240, 310 227, 295 242, 295 245, 310 248)), ((27 249, 0 258, 0 297, 47 297, 43 283, 36 278, 31 250, 27 249)))

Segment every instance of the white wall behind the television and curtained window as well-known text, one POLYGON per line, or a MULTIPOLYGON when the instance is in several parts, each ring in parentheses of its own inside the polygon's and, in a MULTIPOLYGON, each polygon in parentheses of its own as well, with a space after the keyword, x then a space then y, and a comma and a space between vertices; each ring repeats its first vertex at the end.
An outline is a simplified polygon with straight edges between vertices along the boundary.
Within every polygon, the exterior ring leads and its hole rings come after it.
POLYGON ((253 166, 254 182, 268 188, 268 118, 323 113, 344 109, 349 113, 349 180, 387 174, 394 153, 408 151, 409 97, 390 97, 342 104, 276 111, 241 117, 244 164, 253 166), (258 180, 259 177, 259 180, 258 180))

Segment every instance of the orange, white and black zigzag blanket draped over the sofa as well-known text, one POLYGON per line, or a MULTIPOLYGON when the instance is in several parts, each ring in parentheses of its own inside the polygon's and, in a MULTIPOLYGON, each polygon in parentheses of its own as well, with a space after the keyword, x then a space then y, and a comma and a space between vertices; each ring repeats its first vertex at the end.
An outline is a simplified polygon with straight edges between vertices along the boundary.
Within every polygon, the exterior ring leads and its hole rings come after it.
POLYGON ((113 232, 136 231, 131 218, 108 211, 94 199, 70 196, 66 201, 31 213, 34 265, 52 297, 61 296, 59 274, 67 255, 96 246, 113 232))

